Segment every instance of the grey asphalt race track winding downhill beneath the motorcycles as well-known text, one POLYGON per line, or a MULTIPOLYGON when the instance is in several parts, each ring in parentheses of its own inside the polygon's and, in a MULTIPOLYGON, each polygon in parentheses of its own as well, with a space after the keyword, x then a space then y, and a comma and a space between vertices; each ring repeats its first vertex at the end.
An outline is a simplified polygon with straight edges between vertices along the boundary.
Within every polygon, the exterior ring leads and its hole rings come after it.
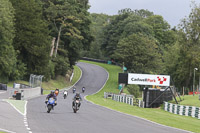
MULTIPOLYGON (((77 64, 82 70, 82 78, 76 84, 82 97, 97 92, 107 80, 107 72, 95 65, 77 64)), ((137 117, 119 113, 85 99, 77 113, 72 110, 74 94, 69 90, 67 99, 58 95, 58 105, 50 113, 45 108, 45 96, 28 101, 27 119, 33 133, 183 133, 186 131, 155 124, 137 117)))

